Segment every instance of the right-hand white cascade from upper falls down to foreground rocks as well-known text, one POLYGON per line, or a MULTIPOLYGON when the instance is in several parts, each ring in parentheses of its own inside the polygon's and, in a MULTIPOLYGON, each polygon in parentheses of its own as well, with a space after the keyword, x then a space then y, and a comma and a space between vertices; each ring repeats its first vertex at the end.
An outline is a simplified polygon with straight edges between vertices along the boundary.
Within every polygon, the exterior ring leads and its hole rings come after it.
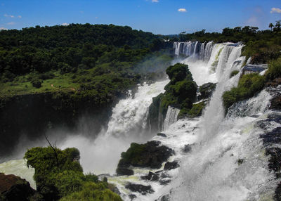
MULTIPOLYGON (((191 46, 191 42, 185 44, 187 47, 191 46)), ((177 160, 180 167, 166 173, 172 178, 171 183, 166 186, 139 179, 139 176, 148 174, 148 171, 156 172, 163 170, 163 167, 157 170, 135 168, 135 176, 110 178, 110 181, 119 187, 124 200, 130 200, 127 197, 130 193, 137 196, 136 200, 165 200, 166 198, 162 197, 164 195, 167 195, 169 200, 273 200, 277 181, 274 180, 274 174, 268 170, 268 159, 263 153, 263 144, 259 137, 263 131, 254 127, 256 122, 265 119, 270 112, 270 94, 262 91, 259 96, 230 108, 225 117, 221 96, 224 91, 237 85, 241 72, 231 79, 230 72, 241 70, 245 59, 240 57, 242 45, 208 44, 208 60, 200 59, 200 55, 197 55, 197 59, 192 58, 193 55, 182 60, 182 63, 189 65, 198 85, 217 83, 204 114, 199 118, 180 119, 174 124, 166 124, 162 131, 166 138, 152 138, 175 151, 169 161, 177 160), (240 115, 237 115, 238 113, 240 115), (191 146, 189 153, 183 153, 185 145, 191 146), (155 193, 142 195, 128 192, 124 188, 124 181, 150 185, 155 193)), ((204 48, 207 45, 205 44, 204 48)), ((183 45, 178 43, 175 46, 176 53, 181 52, 178 46, 183 45)), ((186 48, 185 51, 190 50, 186 48)), ((190 52, 195 52, 195 45, 190 52)), ((167 114, 165 122, 173 119, 172 108, 169 109, 170 114, 167 114)))

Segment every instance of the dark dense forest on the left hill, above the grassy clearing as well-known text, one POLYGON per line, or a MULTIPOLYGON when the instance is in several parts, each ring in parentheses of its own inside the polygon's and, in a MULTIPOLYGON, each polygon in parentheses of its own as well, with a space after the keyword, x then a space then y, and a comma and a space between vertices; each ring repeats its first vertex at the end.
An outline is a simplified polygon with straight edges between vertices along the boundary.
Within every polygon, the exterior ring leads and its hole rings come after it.
POLYGON ((0 32, 0 74, 90 69, 98 63, 138 62, 166 46, 150 32, 115 25, 70 24, 0 32))

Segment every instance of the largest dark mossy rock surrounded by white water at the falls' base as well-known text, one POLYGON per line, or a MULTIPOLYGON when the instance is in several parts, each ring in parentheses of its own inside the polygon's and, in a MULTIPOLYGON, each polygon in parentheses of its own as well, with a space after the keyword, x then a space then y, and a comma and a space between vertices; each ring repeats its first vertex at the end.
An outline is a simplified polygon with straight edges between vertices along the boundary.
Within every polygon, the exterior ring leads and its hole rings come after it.
POLYGON ((132 172, 128 171, 130 166, 158 169, 173 153, 171 148, 160 145, 159 141, 149 141, 145 144, 131 143, 131 147, 121 154, 117 174, 131 175, 132 172))

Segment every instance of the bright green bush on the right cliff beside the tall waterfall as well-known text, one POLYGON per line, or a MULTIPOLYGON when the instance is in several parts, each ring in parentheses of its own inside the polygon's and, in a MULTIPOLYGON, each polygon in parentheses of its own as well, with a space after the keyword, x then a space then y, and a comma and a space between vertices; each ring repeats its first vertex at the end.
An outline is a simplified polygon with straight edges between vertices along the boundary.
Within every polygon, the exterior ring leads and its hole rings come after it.
POLYGON ((240 100, 251 98, 255 93, 261 91, 266 82, 264 76, 256 73, 244 74, 237 87, 223 93, 223 105, 228 108, 240 100))

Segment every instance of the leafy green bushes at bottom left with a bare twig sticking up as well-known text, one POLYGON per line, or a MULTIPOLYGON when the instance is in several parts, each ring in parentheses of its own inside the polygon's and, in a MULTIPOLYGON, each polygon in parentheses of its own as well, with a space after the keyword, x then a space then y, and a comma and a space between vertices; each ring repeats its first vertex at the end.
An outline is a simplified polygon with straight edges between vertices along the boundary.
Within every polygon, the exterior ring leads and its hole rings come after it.
POLYGON ((79 164, 79 150, 60 150, 51 146, 32 148, 25 153, 27 167, 34 167, 37 191, 45 200, 121 200, 108 189, 108 183, 98 181, 93 174, 84 175, 79 164), (91 190, 89 190, 91 188, 91 190), (89 190, 88 194, 85 194, 89 190))

